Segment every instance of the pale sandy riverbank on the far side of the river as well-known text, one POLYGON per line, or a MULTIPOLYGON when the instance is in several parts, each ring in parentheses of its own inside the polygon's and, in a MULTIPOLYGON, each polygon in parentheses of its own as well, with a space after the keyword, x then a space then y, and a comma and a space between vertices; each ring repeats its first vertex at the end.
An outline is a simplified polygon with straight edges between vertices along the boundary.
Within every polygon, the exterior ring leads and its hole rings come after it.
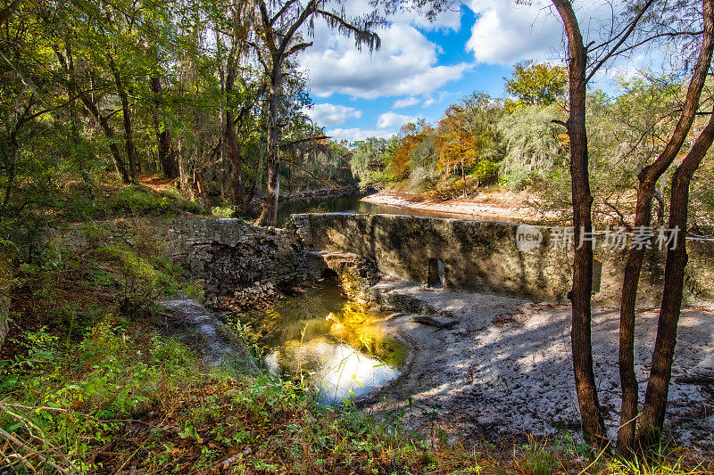
POLYGON ((474 198, 447 201, 429 200, 414 193, 382 190, 362 198, 361 201, 426 213, 444 213, 478 221, 536 224, 544 218, 527 203, 527 197, 522 193, 502 190, 480 192, 474 198))

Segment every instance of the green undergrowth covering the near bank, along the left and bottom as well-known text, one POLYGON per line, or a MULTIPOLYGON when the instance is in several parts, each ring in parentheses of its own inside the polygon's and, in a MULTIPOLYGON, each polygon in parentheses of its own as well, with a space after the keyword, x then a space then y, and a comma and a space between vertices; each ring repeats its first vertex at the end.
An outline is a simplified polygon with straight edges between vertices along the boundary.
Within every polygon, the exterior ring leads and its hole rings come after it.
POLYGON ((626 463, 565 437, 462 444, 436 409, 424 435, 405 429, 407 412, 320 406, 294 381, 207 368, 154 306, 200 290, 137 226, 132 246, 95 236, 15 259, 0 473, 706 472, 685 452, 626 463))

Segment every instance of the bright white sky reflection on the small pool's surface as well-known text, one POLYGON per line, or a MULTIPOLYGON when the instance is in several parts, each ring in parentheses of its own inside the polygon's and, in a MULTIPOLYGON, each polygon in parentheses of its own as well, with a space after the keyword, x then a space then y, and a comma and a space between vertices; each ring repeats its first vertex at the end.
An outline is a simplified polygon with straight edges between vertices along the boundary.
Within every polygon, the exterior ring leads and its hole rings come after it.
MULTIPOLYGON (((298 364, 297 351, 281 355, 276 349, 265 357, 265 363, 274 373, 282 373, 286 366, 298 364), (290 358, 285 361, 285 356, 290 358), (287 364, 286 364, 287 363, 287 364)), ((339 404, 344 397, 361 397, 399 376, 394 367, 367 356, 342 343, 317 339, 306 342, 299 350, 303 374, 310 374, 311 382, 320 389, 320 404, 339 404), (304 364, 304 365, 303 365, 304 364)), ((295 367, 295 373, 298 368, 295 367)))

